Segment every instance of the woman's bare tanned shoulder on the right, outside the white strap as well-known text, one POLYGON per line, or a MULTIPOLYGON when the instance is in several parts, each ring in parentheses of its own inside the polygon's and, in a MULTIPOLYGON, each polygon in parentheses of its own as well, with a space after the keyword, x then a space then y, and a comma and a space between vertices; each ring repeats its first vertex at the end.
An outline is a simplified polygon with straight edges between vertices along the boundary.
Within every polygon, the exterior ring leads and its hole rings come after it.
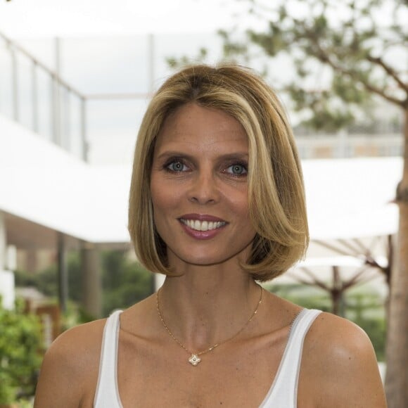
POLYGON ((330 313, 319 314, 307 333, 300 381, 300 391, 314 395, 314 407, 386 407, 369 337, 330 313))

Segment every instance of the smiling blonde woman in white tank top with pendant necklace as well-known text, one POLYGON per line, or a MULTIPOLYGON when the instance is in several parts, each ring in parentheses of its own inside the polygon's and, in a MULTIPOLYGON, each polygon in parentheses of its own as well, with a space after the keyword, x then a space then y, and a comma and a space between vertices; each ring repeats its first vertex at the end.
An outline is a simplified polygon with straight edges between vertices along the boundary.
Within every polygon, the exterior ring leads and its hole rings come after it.
POLYGON ((129 231, 165 283, 63 333, 35 407, 385 407, 361 329, 255 282, 299 260, 308 231, 288 120, 253 72, 193 66, 153 96, 129 231))

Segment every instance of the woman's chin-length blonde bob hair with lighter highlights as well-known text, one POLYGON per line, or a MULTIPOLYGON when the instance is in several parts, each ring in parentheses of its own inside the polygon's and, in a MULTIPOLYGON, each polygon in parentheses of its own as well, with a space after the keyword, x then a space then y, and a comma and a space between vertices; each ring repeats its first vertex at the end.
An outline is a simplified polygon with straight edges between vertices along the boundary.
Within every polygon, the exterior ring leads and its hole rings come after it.
POLYGON ((166 118, 186 103, 215 108, 241 123, 248 135, 248 203, 255 238, 243 269, 259 281, 274 279, 305 255, 309 243, 298 151, 274 91, 237 65, 193 65, 167 79, 141 123, 129 197, 129 233, 144 266, 170 276, 166 246, 155 230, 151 167, 155 140, 166 118))

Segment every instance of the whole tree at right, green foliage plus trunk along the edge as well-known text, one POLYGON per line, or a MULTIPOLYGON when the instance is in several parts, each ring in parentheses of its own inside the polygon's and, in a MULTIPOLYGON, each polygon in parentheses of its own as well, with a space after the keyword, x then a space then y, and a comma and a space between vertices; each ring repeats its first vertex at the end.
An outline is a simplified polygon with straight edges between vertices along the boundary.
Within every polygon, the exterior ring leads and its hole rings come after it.
POLYGON ((385 388, 390 408, 408 407, 408 1, 241 1, 261 28, 245 35, 219 32, 226 58, 252 65, 266 61, 270 78, 276 57, 286 53, 293 72, 283 89, 308 125, 348 126, 373 98, 400 109, 404 168, 395 198, 399 246, 390 286, 385 388))

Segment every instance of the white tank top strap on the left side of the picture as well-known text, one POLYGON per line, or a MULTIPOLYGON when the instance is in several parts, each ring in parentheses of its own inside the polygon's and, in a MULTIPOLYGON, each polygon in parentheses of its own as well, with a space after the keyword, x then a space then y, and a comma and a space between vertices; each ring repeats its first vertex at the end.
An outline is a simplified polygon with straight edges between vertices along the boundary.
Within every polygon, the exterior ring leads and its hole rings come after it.
POLYGON ((106 319, 103 329, 101 359, 94 408, 122 408, 117 387, 117 347, 119 345, 120 314, 117 310, 106 319))

